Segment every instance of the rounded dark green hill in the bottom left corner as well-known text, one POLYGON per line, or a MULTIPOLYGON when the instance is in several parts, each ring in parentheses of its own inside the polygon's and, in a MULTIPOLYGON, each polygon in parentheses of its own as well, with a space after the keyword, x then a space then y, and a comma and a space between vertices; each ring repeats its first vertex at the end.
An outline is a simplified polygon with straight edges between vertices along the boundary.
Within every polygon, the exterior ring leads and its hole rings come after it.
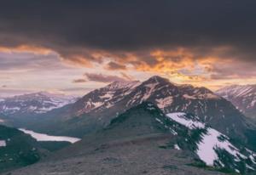
POLYGON ((42 155, 38 148, 29 135, 0 125, 0 172, 35 163, 42 155))

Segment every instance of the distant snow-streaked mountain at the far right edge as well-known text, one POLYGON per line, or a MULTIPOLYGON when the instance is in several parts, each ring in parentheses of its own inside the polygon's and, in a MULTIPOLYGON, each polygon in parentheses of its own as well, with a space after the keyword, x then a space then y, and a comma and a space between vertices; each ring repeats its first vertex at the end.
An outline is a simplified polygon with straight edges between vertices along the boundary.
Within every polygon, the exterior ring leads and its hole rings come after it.
POLYGON ((245 116, 256 120, 256 85, 232 85, 219 89, 218 95, 229 100, 245 116))

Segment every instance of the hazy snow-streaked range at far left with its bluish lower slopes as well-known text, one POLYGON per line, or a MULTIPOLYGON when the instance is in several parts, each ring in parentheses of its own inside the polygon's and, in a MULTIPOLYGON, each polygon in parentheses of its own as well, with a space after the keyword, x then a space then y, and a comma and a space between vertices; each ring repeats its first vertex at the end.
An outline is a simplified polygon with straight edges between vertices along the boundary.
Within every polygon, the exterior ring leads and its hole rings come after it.
POLYGON ((78 98, 61 93, 26 93, 0 99, 0 123, 24 127, 51 110, 74 103, 78 98))

